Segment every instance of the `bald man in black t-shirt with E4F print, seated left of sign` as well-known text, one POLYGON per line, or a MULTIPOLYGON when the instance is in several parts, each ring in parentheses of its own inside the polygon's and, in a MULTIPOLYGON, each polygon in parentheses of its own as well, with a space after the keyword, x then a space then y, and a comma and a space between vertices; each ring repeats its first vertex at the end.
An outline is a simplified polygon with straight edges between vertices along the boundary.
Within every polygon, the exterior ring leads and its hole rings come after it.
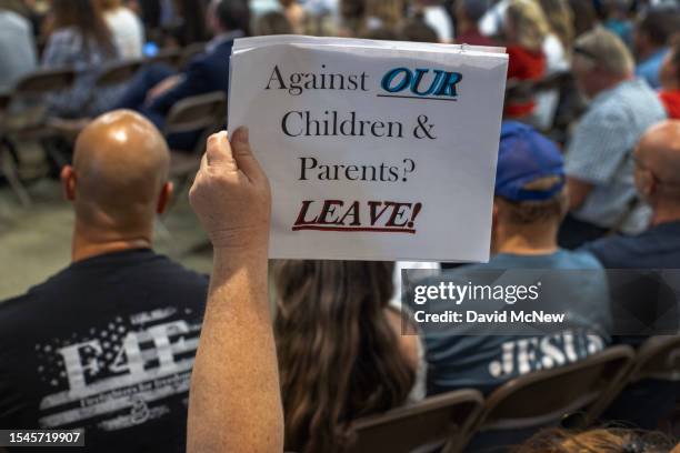
POLYGON ((208 280, 151 250, 169 159, 131 111, 78 137, 61 172, 72 262, 0 304, 0 429, 83 427, 79 451, 184 451, 208 280))

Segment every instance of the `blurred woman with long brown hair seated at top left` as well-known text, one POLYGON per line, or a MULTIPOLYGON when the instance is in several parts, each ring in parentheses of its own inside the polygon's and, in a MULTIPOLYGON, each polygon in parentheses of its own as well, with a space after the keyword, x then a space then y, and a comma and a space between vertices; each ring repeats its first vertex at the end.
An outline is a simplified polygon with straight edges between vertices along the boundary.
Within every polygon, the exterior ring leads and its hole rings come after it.
POLYGON ((102 67, 118 59, 118 49, 94 0, 52 0, 51 6, 52 32, 42 67, 70 67, 77 72, 73 88, 50 100, 51 112, 64 118, 93 117, 120 92, 117 87, 93 92, 102 67))

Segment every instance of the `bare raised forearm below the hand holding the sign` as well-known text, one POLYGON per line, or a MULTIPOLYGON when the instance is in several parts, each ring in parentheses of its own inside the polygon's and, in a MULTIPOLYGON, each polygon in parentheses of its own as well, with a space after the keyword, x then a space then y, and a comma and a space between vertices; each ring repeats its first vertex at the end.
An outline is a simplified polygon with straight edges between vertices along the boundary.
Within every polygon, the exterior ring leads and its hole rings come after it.
POLYGON ((189 452, 283 450, 267 284, 266 246, 216 251, 191 380, 189 452))

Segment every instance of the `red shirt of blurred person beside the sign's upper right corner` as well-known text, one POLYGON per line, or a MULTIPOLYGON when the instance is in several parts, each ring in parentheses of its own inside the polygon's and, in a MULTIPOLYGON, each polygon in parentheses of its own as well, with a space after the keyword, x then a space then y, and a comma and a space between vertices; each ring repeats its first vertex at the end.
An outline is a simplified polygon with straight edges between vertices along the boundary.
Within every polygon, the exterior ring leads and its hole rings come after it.
MULTIPOLYGON (((540 80, 546 74, 546 56, 519 46, 508 46, 510 61, 508 63, 508 80, 540 80)), ((521 118, 533 112, 536 102, 507 102, 503 113, 509 118, 521 118)))

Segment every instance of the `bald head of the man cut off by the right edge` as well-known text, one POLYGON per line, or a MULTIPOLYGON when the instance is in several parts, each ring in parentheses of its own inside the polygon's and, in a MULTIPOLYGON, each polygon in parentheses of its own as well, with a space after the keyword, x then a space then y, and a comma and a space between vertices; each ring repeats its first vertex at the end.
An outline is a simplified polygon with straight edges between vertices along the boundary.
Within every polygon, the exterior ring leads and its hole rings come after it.
POLYGON ((636 158, 643 195, 680 207, 680 120, 667 120, 644 132, 636 158))

